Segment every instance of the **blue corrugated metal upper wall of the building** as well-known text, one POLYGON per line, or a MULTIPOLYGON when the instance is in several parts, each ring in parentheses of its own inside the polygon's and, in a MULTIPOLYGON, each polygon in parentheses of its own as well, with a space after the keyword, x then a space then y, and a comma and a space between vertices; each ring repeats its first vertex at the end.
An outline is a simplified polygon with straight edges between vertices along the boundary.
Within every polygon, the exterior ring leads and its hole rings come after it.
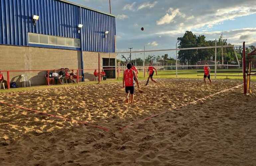
POLYGON ((59 0, 0 0, 0 44, 28 46, 28 33, 77 38, 84 51, 115 51, 115 17, 59 0), (39 15, 36 26, 32 16, 39 15), (107 38, 104 32, 109 31, 107 38))

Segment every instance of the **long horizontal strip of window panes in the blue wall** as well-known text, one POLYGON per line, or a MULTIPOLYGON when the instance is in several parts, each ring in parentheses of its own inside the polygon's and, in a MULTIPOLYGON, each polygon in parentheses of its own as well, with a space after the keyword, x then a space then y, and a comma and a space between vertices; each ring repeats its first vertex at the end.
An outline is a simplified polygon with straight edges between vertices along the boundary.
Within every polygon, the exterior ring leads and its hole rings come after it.
POLYGON ((32 43, 32 44, 80 47, 79 39, 63 38, 63 37, 33 34, 33 33, 29 33, 28 36, 29 36, 29 43, 32 43))

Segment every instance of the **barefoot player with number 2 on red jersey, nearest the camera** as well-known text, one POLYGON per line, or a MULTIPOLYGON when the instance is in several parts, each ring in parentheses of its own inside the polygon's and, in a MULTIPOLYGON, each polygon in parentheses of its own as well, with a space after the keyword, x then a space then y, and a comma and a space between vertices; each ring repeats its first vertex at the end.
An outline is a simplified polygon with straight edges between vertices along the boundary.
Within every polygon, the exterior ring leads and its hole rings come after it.
POLYGON ((140 89, 140 85, 139 85, 139 81, 135 71, 132 70, 131 68, 132 68, 132 64, 128 63, 127 69, 124 71, 124 74, 123 74, 123 88, 125 87, 126 102, 129 103, 129 93, 130 93, 130 103, 132 104, 134 99, 134 92, 135 92, 134 79, 139 89, 140 89))

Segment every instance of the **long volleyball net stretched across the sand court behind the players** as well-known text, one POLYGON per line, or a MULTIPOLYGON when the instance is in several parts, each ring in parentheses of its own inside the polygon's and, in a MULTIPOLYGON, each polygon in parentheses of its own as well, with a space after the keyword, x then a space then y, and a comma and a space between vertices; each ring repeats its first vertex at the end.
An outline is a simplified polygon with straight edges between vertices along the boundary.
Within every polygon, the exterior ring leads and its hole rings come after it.
POLYGON ((243 76, 241 55, 234 45, 174 48, 161 50, 124 51, 117 53, 119 74, 127 63, 134 63, 139 77, 147 77, 149 63, 160 71, 163 78, 194 78, 204 75, 205 63, 214 78, 239 78, 243 76))

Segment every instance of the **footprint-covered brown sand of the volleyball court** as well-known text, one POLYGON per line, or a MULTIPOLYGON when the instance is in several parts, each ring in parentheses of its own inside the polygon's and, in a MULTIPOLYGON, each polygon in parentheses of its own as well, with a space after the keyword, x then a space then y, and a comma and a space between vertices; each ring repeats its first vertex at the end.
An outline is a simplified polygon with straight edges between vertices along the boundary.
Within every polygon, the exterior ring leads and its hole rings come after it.
POLYGON ((2 95, 2 102, 110 131, 1 104, 0 165, 256 165, 255 95, 239 87, 174 110, 241 81, 159 81, 142 85, 132 106, 121 82, 2 95))

